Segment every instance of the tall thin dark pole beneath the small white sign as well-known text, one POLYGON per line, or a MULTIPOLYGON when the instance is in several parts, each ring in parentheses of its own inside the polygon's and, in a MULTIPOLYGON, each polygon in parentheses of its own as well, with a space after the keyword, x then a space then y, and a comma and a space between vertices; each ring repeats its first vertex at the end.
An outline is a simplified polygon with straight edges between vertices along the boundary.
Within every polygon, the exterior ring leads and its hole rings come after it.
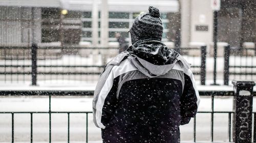
POLYGON ((216 84, 216 60, 217 60, 217 35, 218 35, 218 11, 214 11, 214 83, 212 85, 216 84))

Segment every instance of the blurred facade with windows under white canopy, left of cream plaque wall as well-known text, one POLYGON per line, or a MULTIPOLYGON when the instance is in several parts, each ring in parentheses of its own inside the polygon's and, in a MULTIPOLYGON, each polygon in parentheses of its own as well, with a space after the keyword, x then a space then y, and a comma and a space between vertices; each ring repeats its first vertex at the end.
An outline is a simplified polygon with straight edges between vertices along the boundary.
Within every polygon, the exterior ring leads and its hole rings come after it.
MULTIPOLYGON (((161 9, 164 23, 163 41, 168 40, 168 13, 177 13, 179 5, 173 1, 151 1, 161 9)), ((116 41, 115 33, 119 32, 129 40, 129 27, 141 12, 147 11, 148 1, 108 1, 109 19, 108 41, 116 41)), ((49 43, 62 42, 78 44, 80 41, 93 42, 94 31, 97 31, 96 40, 100 44, 101 37, 101 1, 53 0, 53 1, 6 1, 0 3, 2 21, 2 44, 13 43, 49 43), (98 16, 93 15, 96 3, 98 16), (61 11, 68 10, 67 14, 61 11), (97 26, 93 23, 97 19, 97 26), (8 30, 7 30, 8 29, 8 30), (11 31, 9 31, 11 29, 11 31), (33 37, 33 38, 32 38, 33 37), (15 39, 15 40, 14 40, 15 39), (36 39, 36 40, 35 40, 36 39), (14 40, 14 42, 13 42, 14 40)))

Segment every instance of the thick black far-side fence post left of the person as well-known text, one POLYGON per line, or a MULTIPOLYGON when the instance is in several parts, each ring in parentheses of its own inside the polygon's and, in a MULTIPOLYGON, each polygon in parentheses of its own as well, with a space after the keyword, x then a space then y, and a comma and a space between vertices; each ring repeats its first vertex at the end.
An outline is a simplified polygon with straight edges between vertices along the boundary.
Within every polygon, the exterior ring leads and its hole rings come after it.
POLYGON ((31 47, 31 59, 32 59, 32 85, 36 85, 37 80, 37 45, 32 44, 31 47))

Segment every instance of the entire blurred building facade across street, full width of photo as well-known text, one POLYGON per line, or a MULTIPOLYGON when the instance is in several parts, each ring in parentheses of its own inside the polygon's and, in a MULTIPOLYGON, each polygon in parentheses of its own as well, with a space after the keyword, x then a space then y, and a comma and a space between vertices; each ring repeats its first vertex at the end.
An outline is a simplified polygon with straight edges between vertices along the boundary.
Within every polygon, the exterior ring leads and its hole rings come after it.
MULTIPOLYGON (((162 12, 164 42, 174 42, 182 47, 193 43, 212 44, 211 0, 108 0, 104 5, 101 3, 101 0, 0 0, 0 43, 74 45, 87 42, 95 46, 103 43, 102 32, 107 33, 105 39, 108 42, 116 41, 116 32, 129 41, 127 31, 134 18, 140 12, 146 12, 148 5, 153 5, 162 12), (67 13, 61 13, 62 10, 67 13), (101 16, 106 12, 109 18, 102 20, 101 16), (102 26, 104 22, 106 28, 102 26)), ((218 32, 218 41, 233 47, 241 47, 244 42, 255 43, 256 1, 221 0, 218 32)))

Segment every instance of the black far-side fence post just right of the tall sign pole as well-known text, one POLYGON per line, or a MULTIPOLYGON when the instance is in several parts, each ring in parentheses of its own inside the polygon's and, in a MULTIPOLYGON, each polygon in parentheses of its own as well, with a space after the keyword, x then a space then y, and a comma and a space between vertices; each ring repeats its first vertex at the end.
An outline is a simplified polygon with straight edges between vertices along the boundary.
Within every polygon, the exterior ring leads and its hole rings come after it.
POLYGON ((230 45, 227 45, 224 50, 224 85, 228 85, 229 81, 229 55, 230 45))

